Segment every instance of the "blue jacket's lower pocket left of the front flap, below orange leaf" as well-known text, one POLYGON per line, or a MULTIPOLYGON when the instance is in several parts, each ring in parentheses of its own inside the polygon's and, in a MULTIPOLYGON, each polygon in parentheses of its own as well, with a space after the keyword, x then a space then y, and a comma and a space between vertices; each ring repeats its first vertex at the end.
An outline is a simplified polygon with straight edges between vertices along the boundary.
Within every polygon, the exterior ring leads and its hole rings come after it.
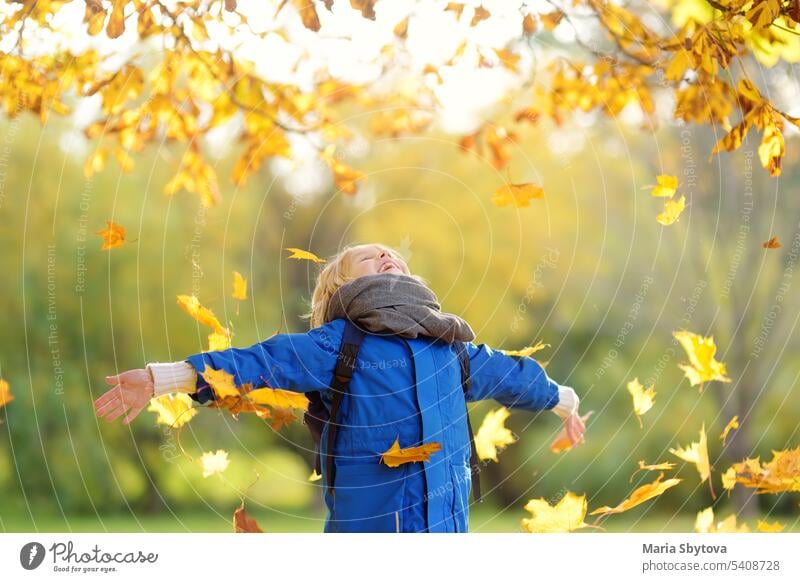
POLYGON ((383 463, 338 465, 330 531, 395 532, 402 526, 408 467, 383 463))

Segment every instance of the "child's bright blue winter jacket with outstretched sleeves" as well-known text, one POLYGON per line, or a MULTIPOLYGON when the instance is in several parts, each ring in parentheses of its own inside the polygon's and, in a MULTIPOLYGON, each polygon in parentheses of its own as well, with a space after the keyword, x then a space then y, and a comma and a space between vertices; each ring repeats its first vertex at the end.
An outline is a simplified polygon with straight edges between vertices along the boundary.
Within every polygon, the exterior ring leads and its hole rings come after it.
MULTIPOLYGON (((330 409, 329 388, 344 332, 336 319, 307 333, 274 335, 249 348, 195 354, 186 359, 234 375, 237 385, 319 390, 330 409)), ((494 399, 512 409, 546 410, 558 403, 559 385, 533 359, 507 356, 467 343, 471 388, 467 401, 494 399)), ((198 374, 200 403, 213 399, 198 374)), ((325 532, 466 532, 470 443, 458 355, 452 344, 429 337, 367 334, 338 413, 334 445, 336 482, 319 483, 328 508, 325 532), (395 439, 400 447, 438 442, 429 461, 388 467, 380 457, 395 439)), ((327 429, 321 447, 325 458, 327 429)), ((322 464, 323 473, 325 463, 322 464)))

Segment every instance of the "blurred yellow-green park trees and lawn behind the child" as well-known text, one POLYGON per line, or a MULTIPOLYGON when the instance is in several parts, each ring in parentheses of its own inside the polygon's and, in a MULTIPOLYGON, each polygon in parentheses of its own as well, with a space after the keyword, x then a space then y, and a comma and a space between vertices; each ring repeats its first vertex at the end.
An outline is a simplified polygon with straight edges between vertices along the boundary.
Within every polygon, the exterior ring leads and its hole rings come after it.
MULTIPOLYGON (((537 358, 575 388, 584 413, 594 410, 586 444, 561 455, 548 450, 555 415, 513 412, 507 426, 520 440, 483 471, 473 531, 517 531, 528 499, 555 502, 567 490, 585 493, 590 511, 616 505, 655 477, 629 481, 640 459, 676 461, 684 481, 604 520, 610 531, 691 531, 712 504, 719 519, 736 511, 753 530, 765 518, 800 531, 797 494, 753 497, 738 486, 729 498, 719 480, 745 455, 768 460, 800 444, 796 143, 783 176, 770 179, 752 163, 756 144, 709 160, 714 136, 702 129, 603 122, 521 131, 502 175, 452 136, 362 140, 343 157, 368 174, 354 197, 336 193, 324 169, 285 164, 237 189, 227 180, 235 155, 223 150, 222 202, 205 210, 185 192, 162 193, 178 149, 145 152, 129 174, 112 162, 87 180, 94 144, 69 120, 5 121, 3 135, 0 376, 15 399, 0 408, 0 531, 229 531, 241 497, 265 531, 321 531, 299 422, 275 433, 255 417, 203 409, 178 443, 153 413, 130 427, 98 421, 92 400, 107 374, 205 347, 209 330, 178 308, 177 294, 197 294, 236 346, 304 331, 316 266, 286 260, 283 249, 330 257, 349 242, 398 249, 443 308, 471 323, 477 343, 549 343, 537 358), (656 223, 661 201, 645 188, 660 173, 677 175, 689 202, 671 227, 656 223), (541 184, 546 197, 495 207, 491 193, 506 179, 541 184), (101 251, 94 233, 111 218, 129 242, 101 251), (761 248, 774 235, 783 248, 761 248), (250 285, 240 305, 233 270, 250 285), (773 323, 754 356, 765 321, 773 323), (682 378, 686 358, 671 333, 684 328, 714 335, 731 384, 700 393, 682 378), (657 391, 643 428, 625 387, 634 377, 657 391), (733 414, 743 426, 723 447, 733 414), (695 468, 668 452, 697 440, 703 423, 716 501, 695 468), (181 446, 194 458, 225 449, 231 465, 204 479, 181 446)), ((496 406, 476 404, 473 425, 496 406)))

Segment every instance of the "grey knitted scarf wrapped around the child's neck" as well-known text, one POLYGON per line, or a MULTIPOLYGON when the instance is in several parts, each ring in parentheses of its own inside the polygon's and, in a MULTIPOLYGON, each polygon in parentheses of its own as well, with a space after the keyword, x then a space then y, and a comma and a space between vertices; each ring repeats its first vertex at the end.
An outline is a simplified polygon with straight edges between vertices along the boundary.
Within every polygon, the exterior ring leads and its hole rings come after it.
POLYGON ((466 321, 443 313, 436 294, 408 275, 379 273, 345 283, 328 301, 325 323, 339 318, 378 335, 423 335, 448 343, 475 339, 466 321))

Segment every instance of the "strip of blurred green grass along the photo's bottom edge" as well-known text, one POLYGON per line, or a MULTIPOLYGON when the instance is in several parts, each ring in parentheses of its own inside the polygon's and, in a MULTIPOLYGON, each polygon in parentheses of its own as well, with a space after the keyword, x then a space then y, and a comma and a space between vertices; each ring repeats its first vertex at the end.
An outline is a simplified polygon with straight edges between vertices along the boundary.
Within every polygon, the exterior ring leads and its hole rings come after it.
MULTIPOLYGON (((26 514, 4 512, 0 515, 0 532, 230 532, 231 515, 215 512, 189 510, 161 514, 139 515, 77 515, 68 519, 58 515, 45 514, 32 519, 26 514)), ((258 520, 259 525, 268 532, 321 532, 323 513, 281 513, 271 509, 248 506, 248 513, 258 520)), ((641 515, 641 512, 639 512, 641 515)), ((475 533, 497 533, 520 531, 520 519, 527 517, 525 511, 511 508, 498 510, 492 507, 477 507, 470 513, 470 531, 475 533)), ((645 517, 635 514, 622 514, 606 518, 600 525, 607 532, 692 532, 694 515, 655 515, 645 517)), ((800 532, 800 518, 767 516, 769 522, 780 521, 786 526, 784 531, 800 532)), ((587 517, 593 524, 594 518, 587 517)), ((755 531, 755 522, 749 523, 755 531)), ((602 531, 585 529, 585 532, 602 531)))

